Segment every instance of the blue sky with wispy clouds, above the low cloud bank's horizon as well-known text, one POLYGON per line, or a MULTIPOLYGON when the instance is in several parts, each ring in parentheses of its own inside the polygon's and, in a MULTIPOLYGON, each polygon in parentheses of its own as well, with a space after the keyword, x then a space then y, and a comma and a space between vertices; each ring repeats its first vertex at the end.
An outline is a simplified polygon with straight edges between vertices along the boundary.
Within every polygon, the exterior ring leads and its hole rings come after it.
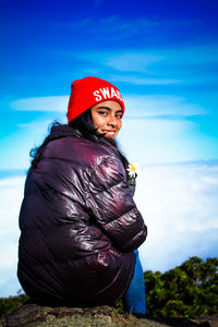
POLYGON ((138 146, 131 131, 120 136, 131 158, 143 146, 141 161, 217 159, 217 10, 211 0, 2 1, 0 168, 28 167, 28 148, 64 121, 70 85, 87 75, 121 89, 124 120, 138 125, 138 146))

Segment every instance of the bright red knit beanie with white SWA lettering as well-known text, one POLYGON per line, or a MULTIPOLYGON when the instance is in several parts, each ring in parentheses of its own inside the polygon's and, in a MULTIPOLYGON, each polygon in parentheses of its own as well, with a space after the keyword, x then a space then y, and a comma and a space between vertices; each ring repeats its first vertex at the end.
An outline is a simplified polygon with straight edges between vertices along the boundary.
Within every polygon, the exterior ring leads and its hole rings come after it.
POLYGON ((66 113, 68 121, 75 119, 94 105, 107 100, 118 101, 124 113, 122 96, 114 85, 98 77, 85 77, 74 81, 71 84, 71 96, 66 113))

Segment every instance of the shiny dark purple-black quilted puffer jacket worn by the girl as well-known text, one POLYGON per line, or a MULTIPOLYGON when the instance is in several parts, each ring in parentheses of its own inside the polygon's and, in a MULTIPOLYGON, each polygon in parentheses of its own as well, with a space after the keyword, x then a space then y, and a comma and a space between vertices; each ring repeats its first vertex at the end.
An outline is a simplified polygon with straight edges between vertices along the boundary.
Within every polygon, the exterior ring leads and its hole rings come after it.
POLYGON ((113 305, 130 284, 146 226, 117 152, 66 135, 51 133, 27 175, 17 276, 39 304, 113 305))

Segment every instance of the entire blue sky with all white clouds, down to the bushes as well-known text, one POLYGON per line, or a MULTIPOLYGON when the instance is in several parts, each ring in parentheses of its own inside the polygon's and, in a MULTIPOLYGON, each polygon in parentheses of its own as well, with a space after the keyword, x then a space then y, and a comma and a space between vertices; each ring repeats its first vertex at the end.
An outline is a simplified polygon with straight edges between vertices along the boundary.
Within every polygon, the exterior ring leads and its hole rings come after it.
POLYGON ((88 75, 125 101, 119 142, 143 167, 144 267, 217 255, 218 2, 2 0, 0 22, 0 294, 19 288, 28 152, 50 122, 66 122, 71 83, 88 75))

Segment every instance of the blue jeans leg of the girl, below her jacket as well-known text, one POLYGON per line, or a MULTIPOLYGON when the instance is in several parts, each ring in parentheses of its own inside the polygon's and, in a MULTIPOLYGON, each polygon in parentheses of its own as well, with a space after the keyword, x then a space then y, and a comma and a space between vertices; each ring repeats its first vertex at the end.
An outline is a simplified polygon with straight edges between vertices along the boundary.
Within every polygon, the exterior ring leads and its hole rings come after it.
POLYGON ((138 257, 138 251, 134 251, 136 254, 135 270, 130 287, 123 296, 124 308, 130 313, 145 314, 145 279, 143 268, 138 257))

